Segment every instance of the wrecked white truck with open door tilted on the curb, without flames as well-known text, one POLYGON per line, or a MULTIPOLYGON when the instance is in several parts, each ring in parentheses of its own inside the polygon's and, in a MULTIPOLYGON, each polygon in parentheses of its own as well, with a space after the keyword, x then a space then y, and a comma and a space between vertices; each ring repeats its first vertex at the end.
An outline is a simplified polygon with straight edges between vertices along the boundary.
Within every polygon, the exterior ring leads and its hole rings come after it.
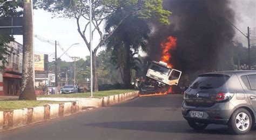
POLYGON ((172 69, 165 62, 151 61, 147 64, 146 77, 140 84, 140 93, 164 92, 172 85, 178 85, 181 71, 172 69))

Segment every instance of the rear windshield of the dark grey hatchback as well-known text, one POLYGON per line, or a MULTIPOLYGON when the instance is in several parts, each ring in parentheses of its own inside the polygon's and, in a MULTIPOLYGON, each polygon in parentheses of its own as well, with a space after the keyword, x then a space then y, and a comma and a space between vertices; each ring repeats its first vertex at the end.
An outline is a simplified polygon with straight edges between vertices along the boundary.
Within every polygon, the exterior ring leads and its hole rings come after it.
POLYGON ((222 74, 204 74, 199 75, 198 78, 190 86, 191 89, 209 90, 217 89, 224 85, 230 76, 222 74))

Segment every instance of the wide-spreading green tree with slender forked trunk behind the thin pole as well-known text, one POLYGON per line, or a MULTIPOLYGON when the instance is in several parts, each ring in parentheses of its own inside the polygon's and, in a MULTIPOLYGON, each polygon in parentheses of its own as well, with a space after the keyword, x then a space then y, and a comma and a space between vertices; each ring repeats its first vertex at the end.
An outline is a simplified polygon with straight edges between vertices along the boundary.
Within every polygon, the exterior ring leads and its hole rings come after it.
MULTIPOLYGON (((86 0, 65 0, 65 1, 47 1, 46 3, 38 3, 38 8, 43 8, 50 12, 55 13, 56 16, 75 18, 77 28, 80 36, 83 38, 86 47, 90 50, 90 42, 88 36, 85 34, 89 25, 89 2, 86 0), (84 22, 83 22, 83 21, 84 22)), ((92 20, 93 20, 93 35, 95 32, 100 36, 99 43, 92 50, 92 65, 93 65, 93 91, 98 91, 98 73, 96 64, 96 54, 99 47, 103 46, 113 33, 119 28, 123 21, 127 17, 137 15, 142 19, 157 18, 160 23, 169 24, 168 17, 169 11, 163 10, 162 0, 104 0, 104 1, 92 1, 92 20), (102 30, 102 24, 107 18, 113 14, 122 13, 122 18, 119 22, 112 26, 107 34, 104 34, 102 30)), ((120 16, 121 17, 121 16, 120 16)))

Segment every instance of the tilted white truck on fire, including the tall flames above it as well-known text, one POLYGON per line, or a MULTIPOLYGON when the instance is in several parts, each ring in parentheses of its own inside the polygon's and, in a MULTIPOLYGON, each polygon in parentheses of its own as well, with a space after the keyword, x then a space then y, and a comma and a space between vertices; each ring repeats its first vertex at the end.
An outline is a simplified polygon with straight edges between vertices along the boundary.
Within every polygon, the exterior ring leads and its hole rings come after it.
POLYGON ((173 69, 170 53, 176 49, 176 42, 177 38, 169 36, 161 42, 161 60, 147 62, 146 76, 137 84, 140 96, 172 93, 172 86, 178 85, 181 71, 173 69))

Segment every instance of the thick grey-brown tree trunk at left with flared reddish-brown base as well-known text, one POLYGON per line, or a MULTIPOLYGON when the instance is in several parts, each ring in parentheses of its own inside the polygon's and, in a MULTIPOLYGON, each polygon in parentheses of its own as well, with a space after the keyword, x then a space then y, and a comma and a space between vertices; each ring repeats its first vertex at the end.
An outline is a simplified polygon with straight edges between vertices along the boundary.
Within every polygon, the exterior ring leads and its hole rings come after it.
POLYGON ((19 100, 36 100, 33 74, 32 4, 24 2, 22 89, 19 100))

